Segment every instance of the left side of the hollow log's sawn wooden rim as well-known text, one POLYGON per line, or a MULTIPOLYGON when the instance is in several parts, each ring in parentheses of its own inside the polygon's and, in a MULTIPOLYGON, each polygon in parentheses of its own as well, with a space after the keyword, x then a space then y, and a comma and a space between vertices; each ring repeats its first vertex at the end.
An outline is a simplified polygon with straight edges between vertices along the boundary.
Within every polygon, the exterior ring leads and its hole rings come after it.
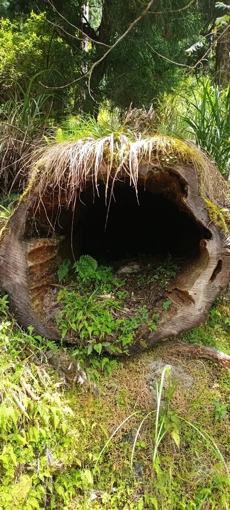
POLYGON ((54 281, 55 277, 51 270, 51 264, 52 269, 54 269, 54 265, 57 262, 53 264, 49 261, 48 267, 45 267, 45 256, 42 253, 41 271, 37 271, 39 259, 36 259, 36 272, 33 274, 33 261, 31 259, 35 246, 39 245, 44 248, 44 252, 49 246, 53 251, 54 261, 60 241, 59 239, 36 239, 33 241, 23 239, 26 217, 31 201, 33 201, 33 197, 31 197, 29 202, 25 201, 19 205, 13 218, 9 221, 7 232, 1 241, 1 285, 8 293, 11 309, 22 326, 28 327, 32 325, 36 333, 48 338, 58 338, 59 335, 56 329, 46 324, 44 317, 40 316, 44 292, 54 281), (46 277, 45 285, 44 277, 46 277), (40 294, 41 290, 42 295, 40 294))

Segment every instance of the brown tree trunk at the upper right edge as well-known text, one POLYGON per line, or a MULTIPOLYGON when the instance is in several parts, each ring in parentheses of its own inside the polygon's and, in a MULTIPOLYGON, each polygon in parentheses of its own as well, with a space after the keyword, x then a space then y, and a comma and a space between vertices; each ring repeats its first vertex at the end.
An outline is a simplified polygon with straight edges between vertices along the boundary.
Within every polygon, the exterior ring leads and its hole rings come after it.
MULTIPOLYGON (((216 83, 226 88, 230 80, 230 21, 216 44, 216 83)), ((219 33, 220 35, 220 33, 219 33)))

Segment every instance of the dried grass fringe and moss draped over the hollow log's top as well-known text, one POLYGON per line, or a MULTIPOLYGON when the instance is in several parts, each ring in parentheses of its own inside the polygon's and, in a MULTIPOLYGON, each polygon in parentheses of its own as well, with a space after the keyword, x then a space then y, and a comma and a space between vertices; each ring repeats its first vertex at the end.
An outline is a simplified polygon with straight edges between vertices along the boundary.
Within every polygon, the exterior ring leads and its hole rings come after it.
POLYGON ((113 134, 95 140, 93 137, 75 142, 50 144, 37 152, 31 162, 29 186, 37 196, 48 189, 59 190, 59 199, 66 205, 75 205, 76 196, 87 181, 91 181, 97 193, 101 176, 108 185, 126 176, 130 185, 137 190, 139 164, 145 161, 160 163, 167 170, 174 164, 187 164, 195 169, 199 192, 218 206, 229 205, 227 184, 216 166, 193 143, 166 136, 113 134), (169 161, 166 159, 169 158, 169 161))

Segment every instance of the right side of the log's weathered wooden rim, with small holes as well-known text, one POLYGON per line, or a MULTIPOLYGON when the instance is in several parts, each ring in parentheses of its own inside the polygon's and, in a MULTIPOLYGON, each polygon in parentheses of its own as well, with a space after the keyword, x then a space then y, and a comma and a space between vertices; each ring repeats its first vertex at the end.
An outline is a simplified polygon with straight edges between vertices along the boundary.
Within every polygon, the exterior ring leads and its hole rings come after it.
MULTIPOLYGON (((176 313, 172 317, 164 317, 158 324, 157 331, 143 336, 148 346, 204 322, 212 302, 220 295, 230 278, 230 239, 210 222, 204 201, 199 196, 195 172, 191 172, 191 167, 178 165, 173 171, 188 183, 187 196, 183 197, 183 203, 196 220, 210 231, 211 236, 210 239, 200 241, 199 256, 178 275, 176 288, 169 292, 169 299, 172 299, 176 313)), ((136 342, 130 350, 133 353, 143 350, 142 342, 136 342)))

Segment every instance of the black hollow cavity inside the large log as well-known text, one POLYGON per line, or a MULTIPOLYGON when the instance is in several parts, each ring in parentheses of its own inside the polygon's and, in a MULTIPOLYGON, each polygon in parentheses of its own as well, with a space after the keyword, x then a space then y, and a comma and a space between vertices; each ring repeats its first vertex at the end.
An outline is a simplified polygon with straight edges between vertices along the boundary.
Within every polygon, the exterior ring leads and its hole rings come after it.
MULTIPOLYGON (((89 186, 80 195, 75 212, 60 214, 56 232, 65 236, 63 255, 77 260, 89 254, 100 262, 116 262, 141 254, 190 257, 199 253, 202 238, 210 237, 195 219, 167 194, 152 193, 143 185, 114 184, 110 205, 108 190, 99 184, 96 194, 89 186)), ((179 202, 179 201, 178 201, 179 202)))

